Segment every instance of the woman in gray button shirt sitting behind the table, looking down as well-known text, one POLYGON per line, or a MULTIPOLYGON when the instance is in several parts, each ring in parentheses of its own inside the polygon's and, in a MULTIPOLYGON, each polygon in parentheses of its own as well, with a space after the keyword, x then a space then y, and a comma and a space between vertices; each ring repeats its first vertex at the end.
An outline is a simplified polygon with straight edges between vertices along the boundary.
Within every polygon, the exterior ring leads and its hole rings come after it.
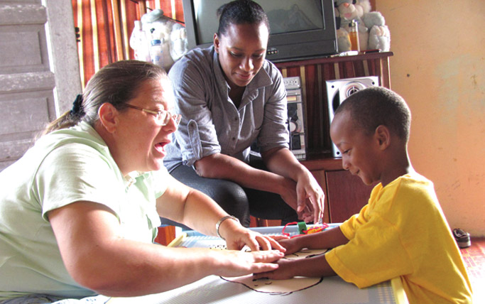
POLYGON ((288 148, 283 77, 265 59, 268 17, 251 0, 217 14, 214 45, 190 51, 169 72, 182 121, 165 166, 246 226, 250 214, 317 222, 324 194, 288 148), (262 158, 251 153, 255 141, 262 158))

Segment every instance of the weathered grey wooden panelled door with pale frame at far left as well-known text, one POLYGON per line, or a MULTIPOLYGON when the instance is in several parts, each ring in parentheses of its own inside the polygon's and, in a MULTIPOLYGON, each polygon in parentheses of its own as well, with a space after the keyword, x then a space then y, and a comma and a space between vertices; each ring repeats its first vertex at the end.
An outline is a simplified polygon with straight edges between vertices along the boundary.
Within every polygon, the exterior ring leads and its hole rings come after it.
POLYGON ((71 4, 0 1, 0 170, 81 92, 71 4))

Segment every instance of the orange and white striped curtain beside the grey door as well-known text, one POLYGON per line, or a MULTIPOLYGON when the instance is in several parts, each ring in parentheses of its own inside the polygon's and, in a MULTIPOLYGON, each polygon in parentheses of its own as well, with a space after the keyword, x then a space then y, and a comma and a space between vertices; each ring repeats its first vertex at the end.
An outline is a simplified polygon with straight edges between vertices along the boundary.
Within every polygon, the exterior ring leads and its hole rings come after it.
POLYGON ((129 47, 134 21, 153 9, 184 21, 182 0, 72 0, 83 88, 104 65, 134 59, 129 47))

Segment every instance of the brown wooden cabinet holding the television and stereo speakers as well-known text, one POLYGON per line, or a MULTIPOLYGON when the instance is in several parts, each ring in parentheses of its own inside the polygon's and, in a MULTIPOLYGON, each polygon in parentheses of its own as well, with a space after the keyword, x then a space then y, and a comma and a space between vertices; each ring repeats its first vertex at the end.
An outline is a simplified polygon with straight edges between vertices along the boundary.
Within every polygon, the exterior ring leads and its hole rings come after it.
POLYGON ((329 136, 326 80, 377 76, 391 88, 389 57, 393 53, 369 53, 276 63, 283 77, 300 76, 305 107, 307 160, 302 161, 325 192, 325 222, 343 222, 366 205, 372 187, 342 168, 332 157, 329 136))

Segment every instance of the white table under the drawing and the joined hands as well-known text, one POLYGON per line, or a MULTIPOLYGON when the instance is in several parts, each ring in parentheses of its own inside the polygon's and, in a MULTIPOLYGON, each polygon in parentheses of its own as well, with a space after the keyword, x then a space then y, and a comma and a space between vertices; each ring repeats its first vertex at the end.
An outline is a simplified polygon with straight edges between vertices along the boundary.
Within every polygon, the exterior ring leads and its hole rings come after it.
MULTIPOLYGON (((336 225, 333 225, 336 226, 336 225)), ((262 234, 280 234, 283 227, 258 227, 262 234)), ((287 227, 285 232, 295 234, 296 227, 287 227)), ((197 232, 186 232, 186 236, 173 241, 170 246, 214 247, 224 243, 217 237, 207 237, 197 232)), ((376 286, 359 289, 338 276, 322 278, 315 285, 288 294, 271 294, 254 291, 240 283, 226 281, 219 276, 208 276, 199 281, 172 291, 133 298, 111 298, 107 304, 406 304, 400 279, 379 283, 376 286)))

